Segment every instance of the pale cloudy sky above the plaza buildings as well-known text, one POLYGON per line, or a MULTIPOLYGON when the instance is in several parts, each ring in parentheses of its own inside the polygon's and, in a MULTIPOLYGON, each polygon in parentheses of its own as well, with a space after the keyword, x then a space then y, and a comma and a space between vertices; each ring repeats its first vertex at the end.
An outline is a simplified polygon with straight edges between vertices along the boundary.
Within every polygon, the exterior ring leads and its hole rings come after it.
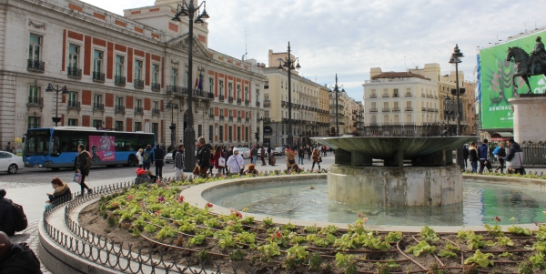
MULTIPOLYGON (((123 15, 155 0, 85 2, 123 15)), ((438 63, 449 74, 459 44, 465 55, 459 69, 473 81, 478 46, 546 26, 543 0, 208 0, 207 13, 209 48, 236 58, 247 53, 267 66, 268 50, 286 52, 289 41, 300 76, 334 85, 338 74, 357 101, 371 67, 406 71, 438 63)))

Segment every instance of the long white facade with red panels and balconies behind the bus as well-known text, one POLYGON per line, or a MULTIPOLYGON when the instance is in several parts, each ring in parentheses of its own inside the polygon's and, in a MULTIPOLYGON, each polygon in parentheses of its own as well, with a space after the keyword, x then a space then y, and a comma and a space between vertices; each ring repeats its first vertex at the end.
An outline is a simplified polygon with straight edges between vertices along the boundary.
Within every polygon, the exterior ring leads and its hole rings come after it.
POLYGON ((159 144, 167 147, 171 136, 180 144, 188 92, 197 137, 255 143, 262 68, 209 49, 207 23, 194 25, 188 37, 187 18, 170 20, 178 2, 158 0, 125 16, 77 0, 0 5, 2 143, 25 137, 27 128, 54 127, 51 117, 58 113, 59 126, 153 132, 159 144), (68 93, 57 101, 56 93, 45 92, 49 83, 68 93))

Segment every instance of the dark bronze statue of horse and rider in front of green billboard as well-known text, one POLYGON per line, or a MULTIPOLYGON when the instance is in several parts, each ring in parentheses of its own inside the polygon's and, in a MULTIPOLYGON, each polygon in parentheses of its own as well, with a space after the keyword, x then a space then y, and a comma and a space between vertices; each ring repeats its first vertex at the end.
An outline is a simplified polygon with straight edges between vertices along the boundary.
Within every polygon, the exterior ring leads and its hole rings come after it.
POLYGON ((531 85, 529 85, 529 77, 531 76, 546 76, 546 50, 544 49, 544 44, 542 44, 541 36, 537 36, 537 44, 534 49, 531 51, 531 56, 525 52, 521 47, 514 46, 508 48, 508 56, 506 56, 506 61, 511 61, 514 59, 516 63, 517 71, 512 76, 512 86, 514 89, 514 94, 516 90, 520 87, 517 86, 515 78, 521 76, 529 88, 528 94, 531 93, 531 85))

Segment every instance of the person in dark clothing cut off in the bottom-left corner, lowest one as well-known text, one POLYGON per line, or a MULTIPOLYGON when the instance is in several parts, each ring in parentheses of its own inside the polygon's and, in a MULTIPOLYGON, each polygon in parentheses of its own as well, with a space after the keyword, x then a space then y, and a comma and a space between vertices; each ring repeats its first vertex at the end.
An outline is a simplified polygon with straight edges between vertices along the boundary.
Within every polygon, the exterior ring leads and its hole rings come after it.
POLYGON ((40 261, 25 242, 13 244, 0 232, 0 273, 42 274, 40 261))

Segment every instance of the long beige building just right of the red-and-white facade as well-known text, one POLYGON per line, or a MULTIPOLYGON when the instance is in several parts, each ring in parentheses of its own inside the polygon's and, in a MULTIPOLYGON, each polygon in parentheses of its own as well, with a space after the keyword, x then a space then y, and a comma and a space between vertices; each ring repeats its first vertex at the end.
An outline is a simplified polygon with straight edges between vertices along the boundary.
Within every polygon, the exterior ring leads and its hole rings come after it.
MULTIPOLYGON (((278 58, 288 53, 269 50, 269 64, 263 73, 267 76, 264 85, 263 143, 265 146, 287 145, 288 136, 288 70, 278 69, 278 58)), ((294 56, 291 56, 294 58, 294 56)), ((328 89, 298 72, 291 72, 292 132, 298 145, 311 143, 309 137, 323 136, 328 131, 328 89)), ((293 145, 293 144, 292 144, 293 145)))

